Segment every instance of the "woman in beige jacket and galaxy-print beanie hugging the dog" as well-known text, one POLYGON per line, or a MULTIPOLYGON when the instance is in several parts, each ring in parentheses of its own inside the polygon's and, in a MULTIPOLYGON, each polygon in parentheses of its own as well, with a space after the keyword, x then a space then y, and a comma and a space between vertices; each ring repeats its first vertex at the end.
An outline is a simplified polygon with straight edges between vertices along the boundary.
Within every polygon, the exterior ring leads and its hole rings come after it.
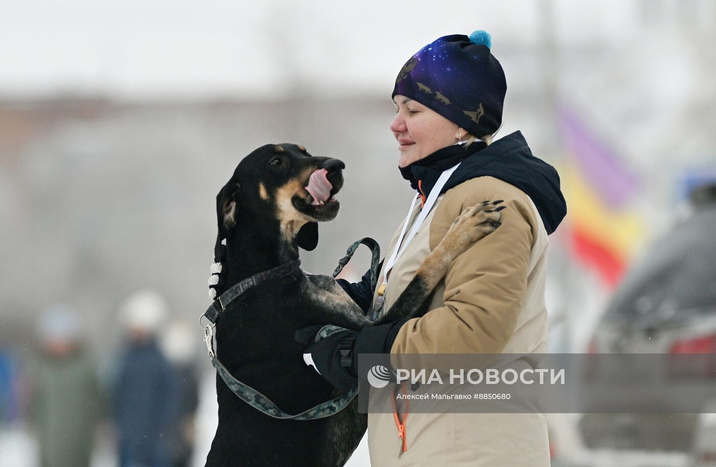
MULTIPOLYGON (((521 133, 493 142, 506 84, 490 46, 483 31, 469 38, 440 37, 413 55, 397 76, 392 93, 397 113, 390 130, 400 150, 400 172, 420 202, 390 242, 372 309, 390 309, 463 209, 503 200, 502 226, 455 259, 424 316, 339 332, 310 345, 305 352, 316 370, 337 387, 354 380, 355 356, 361 353, 547 350, 547 236, 565 216, 566 203, 556 170, 531 155, 521 133), (440 175, 455 165, 443 184, 440 175), (435 190, 440 196, 428 206, 435 190), (410 232, 426 208, 430 213, 415 236, 401 235, 405 223, 410 232), (393 259, 400 237, 404 250, 393 259)), ((365 281, 342 285, 359 303, 367 294, 365 281)), ((400 424, 391 413, 369 414, 373 467, 549 465, 541 414, 415 413, 397 428, 400 424), (397 439, 401 430, 405 438, 397 439)))

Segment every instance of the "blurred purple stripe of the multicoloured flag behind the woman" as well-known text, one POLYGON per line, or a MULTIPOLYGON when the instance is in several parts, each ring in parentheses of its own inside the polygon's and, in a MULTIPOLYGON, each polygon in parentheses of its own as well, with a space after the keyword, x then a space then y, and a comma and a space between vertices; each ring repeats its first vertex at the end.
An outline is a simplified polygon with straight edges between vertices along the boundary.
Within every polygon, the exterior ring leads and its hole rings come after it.
POLYGON ((580 172, 604 203, 617 208, 637 193, 636 175, 618 155, 592 135, 571 110, 560 107, 559 126, 565 145, 571 149, 580 172))

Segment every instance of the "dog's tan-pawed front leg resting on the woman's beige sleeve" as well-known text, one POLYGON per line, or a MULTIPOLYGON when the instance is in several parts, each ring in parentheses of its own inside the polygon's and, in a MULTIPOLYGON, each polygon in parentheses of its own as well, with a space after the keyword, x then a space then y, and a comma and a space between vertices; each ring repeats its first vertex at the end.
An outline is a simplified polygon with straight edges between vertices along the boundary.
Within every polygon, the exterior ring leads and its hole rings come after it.
POLYGON ((460 214, 440 243, 425 257, 395 304, 376 324, 418 316, 427 306, 432 291, 448 273, 450 263, 468 246, 500 226, 500 211, 504 206, 495 207, 499 203, 502 201, 485 201, 460 214))

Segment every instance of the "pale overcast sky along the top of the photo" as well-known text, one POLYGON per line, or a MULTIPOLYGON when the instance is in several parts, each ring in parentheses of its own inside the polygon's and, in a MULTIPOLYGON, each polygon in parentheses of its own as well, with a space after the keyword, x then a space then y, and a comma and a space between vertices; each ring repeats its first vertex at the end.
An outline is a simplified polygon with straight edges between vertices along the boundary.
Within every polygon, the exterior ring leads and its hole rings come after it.
POLYGON ((392 88, 444 34, 486 29, 493 52, 633 34, 639 2, 1 0, 0 97, 281 97, 392 88))

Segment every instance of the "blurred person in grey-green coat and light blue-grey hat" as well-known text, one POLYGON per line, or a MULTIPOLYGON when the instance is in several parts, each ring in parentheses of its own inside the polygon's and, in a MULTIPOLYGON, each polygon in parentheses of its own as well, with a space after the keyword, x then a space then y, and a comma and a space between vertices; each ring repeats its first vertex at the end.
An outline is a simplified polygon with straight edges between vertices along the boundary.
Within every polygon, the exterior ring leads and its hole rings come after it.
POLYGON ((81 329, 66 305, 48 309, 39 320, 39 355, 28 365, 28 415, 42 467, 88 467, 95 446, 103 398, 81 329))

